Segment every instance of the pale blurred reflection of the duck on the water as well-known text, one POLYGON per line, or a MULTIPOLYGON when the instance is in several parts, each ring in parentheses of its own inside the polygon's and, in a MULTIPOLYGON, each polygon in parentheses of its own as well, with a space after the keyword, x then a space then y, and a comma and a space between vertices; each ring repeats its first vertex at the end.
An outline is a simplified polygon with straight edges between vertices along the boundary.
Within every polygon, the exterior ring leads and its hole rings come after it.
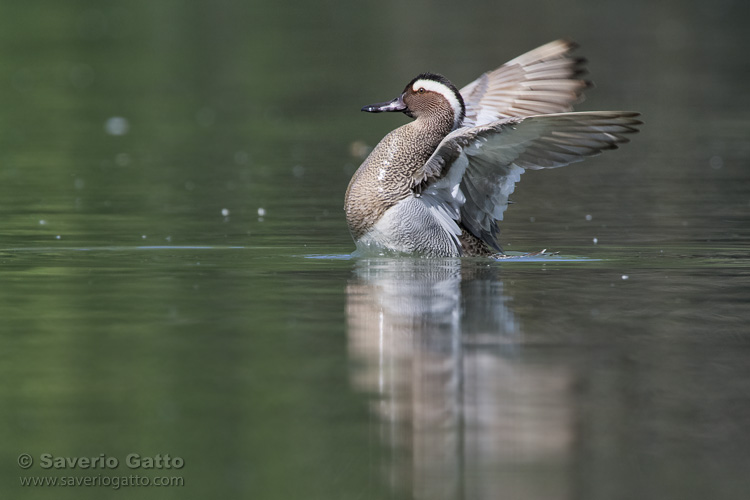
POLYGON ((499 272, 483 261, 361 260, 347 287, 353 383, 375 397, 394 453, 388 479, 415 498, 565 496, 570 376, 521 362, 499 272))

